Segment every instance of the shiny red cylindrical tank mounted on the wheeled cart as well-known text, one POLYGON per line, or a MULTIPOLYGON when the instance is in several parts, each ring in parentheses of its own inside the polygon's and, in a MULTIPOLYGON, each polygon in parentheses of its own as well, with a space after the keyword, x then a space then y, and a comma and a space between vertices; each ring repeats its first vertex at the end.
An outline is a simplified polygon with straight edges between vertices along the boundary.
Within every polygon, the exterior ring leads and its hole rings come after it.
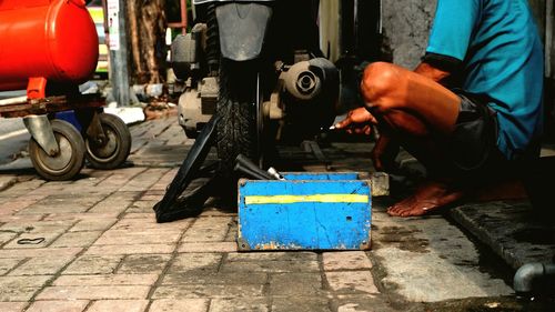
POLYGON ((98 44, 84 0, 1 0, 0 91, 26 89, 29 78, 83 82, 98 44))

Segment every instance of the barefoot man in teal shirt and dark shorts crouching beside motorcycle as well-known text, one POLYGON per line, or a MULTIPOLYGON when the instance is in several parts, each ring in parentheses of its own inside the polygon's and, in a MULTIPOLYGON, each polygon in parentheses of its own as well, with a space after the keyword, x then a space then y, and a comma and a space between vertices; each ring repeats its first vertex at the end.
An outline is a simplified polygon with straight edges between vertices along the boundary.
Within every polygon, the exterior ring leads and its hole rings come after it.
POLYGON ((527 1, 438 0, 421 64, 372 63, 361 92, 365 107, 335 127, 370 133, 377 125, 376 170, 396 144, 427 170, 427 181, 387 213, 422 215, 462 199, 481 174, 537 157, 543 48, 527 1))

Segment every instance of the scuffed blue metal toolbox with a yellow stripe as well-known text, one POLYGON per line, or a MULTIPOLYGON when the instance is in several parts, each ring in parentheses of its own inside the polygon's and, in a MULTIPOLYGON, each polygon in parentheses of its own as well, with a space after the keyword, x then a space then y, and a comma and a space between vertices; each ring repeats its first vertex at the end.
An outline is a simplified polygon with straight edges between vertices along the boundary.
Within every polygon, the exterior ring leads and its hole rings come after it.
POLYGON ((239 250, 367 250, 371 187, 357 173, 239 182, 239 250))

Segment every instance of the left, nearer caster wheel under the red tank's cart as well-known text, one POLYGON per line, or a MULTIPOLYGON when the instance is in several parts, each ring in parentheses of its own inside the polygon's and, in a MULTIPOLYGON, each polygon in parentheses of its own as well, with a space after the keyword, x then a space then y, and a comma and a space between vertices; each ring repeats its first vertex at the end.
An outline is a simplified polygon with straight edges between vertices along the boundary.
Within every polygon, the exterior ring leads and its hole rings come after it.
POLYGON ((81 171, 84 163, 83 138, 69 122, 52 120, 51 124, 60 152, 51 157, 31 138, 29 155, 37 172, 46 180, 70 180, 81 171))

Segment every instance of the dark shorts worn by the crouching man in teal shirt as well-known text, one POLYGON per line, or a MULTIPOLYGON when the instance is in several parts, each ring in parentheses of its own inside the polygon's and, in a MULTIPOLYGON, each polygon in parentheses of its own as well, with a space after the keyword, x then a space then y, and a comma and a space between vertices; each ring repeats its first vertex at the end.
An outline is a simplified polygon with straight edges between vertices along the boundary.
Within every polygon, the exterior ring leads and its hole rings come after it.
POLYGON ((455 130, 447 142, 447 154, 462 174, 484 173, 501 167, 505 157, 497 149, 497 118, 487 99, 462 90, 455 130))

